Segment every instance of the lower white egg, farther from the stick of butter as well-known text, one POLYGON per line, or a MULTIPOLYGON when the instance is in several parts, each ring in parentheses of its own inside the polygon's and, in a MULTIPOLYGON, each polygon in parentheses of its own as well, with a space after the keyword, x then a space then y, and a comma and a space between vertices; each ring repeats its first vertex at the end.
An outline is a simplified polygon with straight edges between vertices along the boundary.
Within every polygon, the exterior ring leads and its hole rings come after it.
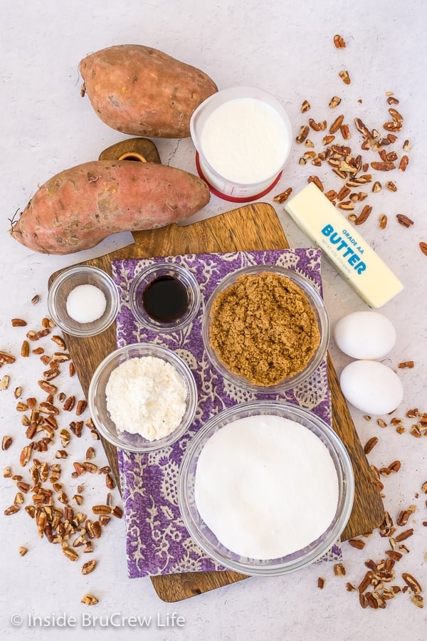
POLYGON ((393 370, 376 360, 354 360, 339 377, 349 403, 369 415, 389 414, 404 397, 401 380, 393 370))

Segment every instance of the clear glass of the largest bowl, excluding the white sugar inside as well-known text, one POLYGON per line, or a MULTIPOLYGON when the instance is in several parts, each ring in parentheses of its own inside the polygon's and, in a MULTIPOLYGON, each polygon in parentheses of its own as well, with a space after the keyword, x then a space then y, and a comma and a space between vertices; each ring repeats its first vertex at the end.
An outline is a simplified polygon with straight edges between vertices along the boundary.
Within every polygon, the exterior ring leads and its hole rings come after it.
MULTIPOLYGON (((218 474, 221 470, 218 470, 218 474)), ((181 517, 191 537, 201 549, 222 566, 247 575, 281 575, 310 565, 327 553, 341 536, 352 512, 354 473, 347 449, 337 434, 317 415, 283 401, 251 401, 228 407, 209 419, 191 439, 182 459, 178 481, 181 517), (255 559, 240 556, 218 541, 201 518, 196 506, 194 486, 199 456, 206 442, 226 424, 244 417, 280 416, 302 424, 327 447, 337 471, 338 504, 332 523, 316 541, 282 558, 255 559)), ((292 523, 290 523, 292 527, 292 523)))

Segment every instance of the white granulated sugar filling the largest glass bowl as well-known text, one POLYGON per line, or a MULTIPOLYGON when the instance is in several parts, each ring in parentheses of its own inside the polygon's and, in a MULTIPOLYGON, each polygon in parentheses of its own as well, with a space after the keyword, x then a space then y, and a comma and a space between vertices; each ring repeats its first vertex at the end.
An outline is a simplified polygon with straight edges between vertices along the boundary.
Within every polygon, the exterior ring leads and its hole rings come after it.
POLYGON ((315 541, 338 504, 337 471, 322 441, 297 422, 268 415, 228 423, 206 442, 194 491, 218 541, 258 559, 315 541))

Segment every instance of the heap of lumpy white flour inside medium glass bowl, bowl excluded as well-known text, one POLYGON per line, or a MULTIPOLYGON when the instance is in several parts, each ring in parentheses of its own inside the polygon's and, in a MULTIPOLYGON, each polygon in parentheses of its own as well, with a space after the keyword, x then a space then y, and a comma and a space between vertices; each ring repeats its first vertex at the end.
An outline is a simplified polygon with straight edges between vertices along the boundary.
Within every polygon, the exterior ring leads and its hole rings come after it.
POLYGON ((186 409, 186 384, 162 358, 130 358, 110 374, 107 410, 120 432, 161 439, 178 427, 186 409))

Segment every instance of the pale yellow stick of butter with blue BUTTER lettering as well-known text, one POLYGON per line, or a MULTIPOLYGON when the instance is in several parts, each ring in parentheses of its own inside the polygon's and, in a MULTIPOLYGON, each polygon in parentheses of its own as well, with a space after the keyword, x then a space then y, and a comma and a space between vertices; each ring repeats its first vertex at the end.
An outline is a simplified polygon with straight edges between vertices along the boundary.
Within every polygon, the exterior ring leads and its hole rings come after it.
POLYGON ((404 286, 313 182, 285 204, 365 303, 381 307, 404 286))

